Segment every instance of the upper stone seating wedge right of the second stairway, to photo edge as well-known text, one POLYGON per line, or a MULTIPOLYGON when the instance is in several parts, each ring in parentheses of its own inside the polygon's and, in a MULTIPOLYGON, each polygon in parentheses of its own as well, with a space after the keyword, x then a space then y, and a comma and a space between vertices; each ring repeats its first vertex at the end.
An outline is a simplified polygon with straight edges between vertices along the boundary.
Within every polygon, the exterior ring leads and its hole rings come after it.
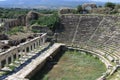
POLYGON ((104 17, 98 29, 89 42, 99 46, 111 47, 114 49, 120 46, 120 17, 104 17))

